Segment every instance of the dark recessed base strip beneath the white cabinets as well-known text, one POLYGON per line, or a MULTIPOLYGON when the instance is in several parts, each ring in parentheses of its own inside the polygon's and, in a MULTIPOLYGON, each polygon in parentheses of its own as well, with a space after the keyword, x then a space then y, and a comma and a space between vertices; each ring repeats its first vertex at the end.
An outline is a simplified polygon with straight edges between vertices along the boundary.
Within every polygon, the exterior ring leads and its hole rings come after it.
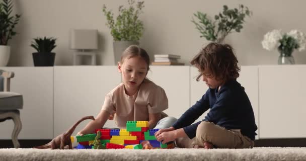
MULTIPOLYGON (((20 139, 21 148, 31 148, 50 142, 51 139, 20 139)), ((0 148, 13 148, 12 140, 0 140, 0 148)), ((306 138, 286 138, 286 139, 259 139, 255 140, 255 147, 306 147, 306 138)))

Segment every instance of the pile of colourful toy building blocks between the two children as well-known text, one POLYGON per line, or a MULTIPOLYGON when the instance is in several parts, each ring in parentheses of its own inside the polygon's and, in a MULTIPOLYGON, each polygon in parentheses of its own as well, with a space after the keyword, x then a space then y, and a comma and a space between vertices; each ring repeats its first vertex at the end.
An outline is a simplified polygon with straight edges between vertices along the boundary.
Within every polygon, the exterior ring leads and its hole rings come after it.
POLYGON ((156 140, 155 132, 159 129, 148 129, 148 121, 127 121, 126 129, 96 129, 94 134, 77 136, 77 148, 93 148, 97 132, 101 132, 100 142, 106 149, 142 149, 141 142, 149 141, 155 148, 173 148, 173 142, 162 144, 156 140))

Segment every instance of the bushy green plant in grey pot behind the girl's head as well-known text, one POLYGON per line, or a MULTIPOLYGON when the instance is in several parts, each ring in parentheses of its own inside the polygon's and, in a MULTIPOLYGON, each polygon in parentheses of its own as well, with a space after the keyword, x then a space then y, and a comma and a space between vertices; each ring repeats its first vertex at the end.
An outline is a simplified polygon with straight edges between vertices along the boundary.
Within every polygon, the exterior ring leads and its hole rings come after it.
POLYGON ((134 0, 128 0, 128 8, 119 6, 119 15, 116 20, 114 20, 114 14, 111 11, 107 11, 106 6, 103 5, 102 11, 106 16, 106 26, 111 29, 111 35, 114 40, 115 64, 119 62, 122 52, 128 46, 139 45, 139 39, 144 30, 143 22, 138 19, 144 7, 143 3, 142 1, 135 4, 134 0))

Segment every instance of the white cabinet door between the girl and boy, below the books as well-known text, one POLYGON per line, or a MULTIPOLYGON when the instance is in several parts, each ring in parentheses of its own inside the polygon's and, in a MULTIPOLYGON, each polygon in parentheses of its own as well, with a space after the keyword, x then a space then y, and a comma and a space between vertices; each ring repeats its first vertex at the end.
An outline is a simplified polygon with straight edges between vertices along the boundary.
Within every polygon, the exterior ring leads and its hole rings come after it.
POLYGON ((189 66, 151 66, 147 77, 165 90, 169 116, 179 118, 189 108, 189 66))

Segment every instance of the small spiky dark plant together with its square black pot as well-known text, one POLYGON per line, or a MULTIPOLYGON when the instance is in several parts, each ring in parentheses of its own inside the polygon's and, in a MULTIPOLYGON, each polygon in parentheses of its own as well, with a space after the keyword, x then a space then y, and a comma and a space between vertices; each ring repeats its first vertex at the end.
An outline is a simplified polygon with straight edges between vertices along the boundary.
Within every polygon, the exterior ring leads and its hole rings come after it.
POLYGON ((34 38, 31 46, 37 50, 37 52, 32 53, 34 66, 53 66, 55 53, 51 52, 55 47, 56 39, 50 38, 34 38))

